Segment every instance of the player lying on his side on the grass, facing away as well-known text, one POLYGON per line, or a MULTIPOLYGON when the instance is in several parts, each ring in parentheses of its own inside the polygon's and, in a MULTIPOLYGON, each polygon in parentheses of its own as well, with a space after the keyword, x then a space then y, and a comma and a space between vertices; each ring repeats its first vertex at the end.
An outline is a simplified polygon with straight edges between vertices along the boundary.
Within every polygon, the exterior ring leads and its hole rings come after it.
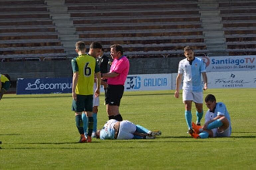
POLYGON ((150 131, 128 120, 108 120, 101 130, 97 130, 96 138, 105 139, 155 139, 161 131, 150 131))

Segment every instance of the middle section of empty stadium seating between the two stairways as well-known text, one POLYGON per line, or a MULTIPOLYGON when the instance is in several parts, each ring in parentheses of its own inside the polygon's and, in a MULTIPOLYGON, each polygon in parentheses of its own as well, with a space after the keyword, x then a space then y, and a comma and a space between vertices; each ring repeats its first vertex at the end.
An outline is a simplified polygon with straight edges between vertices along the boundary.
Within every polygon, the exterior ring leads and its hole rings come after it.
POLYGON ((65 0, 79 39, 114 43, 134 57, 176 57, 186 45, 207 52, 197 0, 65 0))

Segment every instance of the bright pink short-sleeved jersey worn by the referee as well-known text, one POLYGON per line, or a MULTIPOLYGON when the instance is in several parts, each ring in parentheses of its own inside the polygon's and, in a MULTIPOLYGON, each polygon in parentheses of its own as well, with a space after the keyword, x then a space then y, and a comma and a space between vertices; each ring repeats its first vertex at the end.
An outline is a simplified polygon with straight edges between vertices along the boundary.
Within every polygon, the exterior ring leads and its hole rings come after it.
POLYGON ((126 56, 122 56, 119 59, 114 59, 109 72, 115 72, 119 75, 116 77, 109 77, 107 83, 109 85, 124 85, 129 72, 129 67, 130 63, 126 56))

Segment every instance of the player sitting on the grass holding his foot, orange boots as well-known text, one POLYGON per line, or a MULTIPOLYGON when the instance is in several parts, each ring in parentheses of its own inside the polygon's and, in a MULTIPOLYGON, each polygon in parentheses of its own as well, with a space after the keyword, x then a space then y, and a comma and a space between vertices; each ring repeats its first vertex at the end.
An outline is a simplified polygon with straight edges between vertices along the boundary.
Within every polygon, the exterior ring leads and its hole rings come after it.
POLYGON ((193 138, 230 137, 231 121, 225 104, 216 102, 212 94, 208 94, 204 101, 209 108, 205 114, 205 124, 201 127, 192 122, 194 133, 191 136, 193 138))

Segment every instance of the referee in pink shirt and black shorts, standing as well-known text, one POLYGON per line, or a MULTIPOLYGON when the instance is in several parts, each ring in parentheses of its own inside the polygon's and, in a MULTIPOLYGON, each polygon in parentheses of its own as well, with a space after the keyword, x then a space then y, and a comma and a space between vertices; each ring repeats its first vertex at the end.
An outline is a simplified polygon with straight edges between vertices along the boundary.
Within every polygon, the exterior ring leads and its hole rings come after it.
POLYGON ((114 59, 110 71, 101 74, 101 77, 107 79, 108 84, 105 102, 109 120, 122 121, 119 105, 124 93, 124 83, 129 72, 130 63, 127 57, 123 55, 123 47, 119 44, 110 46, 110 54, 114 59))

